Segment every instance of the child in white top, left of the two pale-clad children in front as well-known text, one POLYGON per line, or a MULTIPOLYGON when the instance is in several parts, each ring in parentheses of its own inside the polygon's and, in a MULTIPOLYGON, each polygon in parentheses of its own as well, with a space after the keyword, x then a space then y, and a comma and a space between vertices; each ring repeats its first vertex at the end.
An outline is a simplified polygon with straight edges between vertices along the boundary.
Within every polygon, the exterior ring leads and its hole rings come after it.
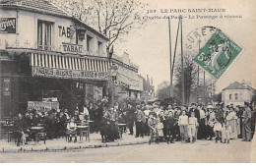
POLYGON ((185 142, 185 136, 187 135, 188 126, 188 116, 186 115, 186 110, 183 110, 181 116, 179 116, 178 126, 180 131, 181 142, 185 142))

